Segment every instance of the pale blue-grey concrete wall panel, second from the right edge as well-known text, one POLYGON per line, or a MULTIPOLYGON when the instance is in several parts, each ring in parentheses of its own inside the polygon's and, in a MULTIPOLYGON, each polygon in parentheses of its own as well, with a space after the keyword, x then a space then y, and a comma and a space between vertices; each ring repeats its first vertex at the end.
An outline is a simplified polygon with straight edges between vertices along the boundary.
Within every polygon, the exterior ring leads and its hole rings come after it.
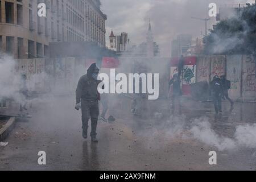
POLYGON ((226 56, 226 78, 231 82, 229 96, 233 100, 242 97, 242 55, 226 56))

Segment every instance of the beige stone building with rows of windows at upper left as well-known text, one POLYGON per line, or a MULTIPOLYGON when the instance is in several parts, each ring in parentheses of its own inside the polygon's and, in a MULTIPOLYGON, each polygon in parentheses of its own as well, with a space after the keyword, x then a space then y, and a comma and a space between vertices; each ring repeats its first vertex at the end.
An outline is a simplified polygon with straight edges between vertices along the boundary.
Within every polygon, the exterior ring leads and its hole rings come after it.
POLYGON ((0 49, 14 58, 45 57, 51 42, 105 47, 106 15, 99 0, 0 0, 0 49), (38 16, 39 3, 46 17, 38 16))

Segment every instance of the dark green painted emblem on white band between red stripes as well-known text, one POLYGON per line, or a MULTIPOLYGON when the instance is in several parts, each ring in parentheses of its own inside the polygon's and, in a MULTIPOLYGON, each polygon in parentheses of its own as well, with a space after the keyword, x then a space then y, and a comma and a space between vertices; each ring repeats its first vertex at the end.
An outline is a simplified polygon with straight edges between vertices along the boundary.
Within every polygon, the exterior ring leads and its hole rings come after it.
POLYGON ((183 85, 195 84, 196 65, 185 65, 183 67, 183 85))

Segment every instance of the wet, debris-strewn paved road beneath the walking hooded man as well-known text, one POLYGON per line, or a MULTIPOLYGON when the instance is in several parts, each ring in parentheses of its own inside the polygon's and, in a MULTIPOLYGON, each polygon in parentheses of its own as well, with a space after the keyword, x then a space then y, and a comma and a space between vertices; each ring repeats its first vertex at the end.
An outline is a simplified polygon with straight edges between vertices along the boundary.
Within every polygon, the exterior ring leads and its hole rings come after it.
POLYGON ((232 138, 237 125, 256 122, 255 106, 236 104, 222 117, 214 117, 210 103, 186 104, 185 115, 167 121, 118 116, 113 123, 98 124, 94 144, 81 137, 81 113, 73 109, 72 98, 51 99, 34 104, 29 121, 16 122, 9 145, 0 148, 0 170, 255 170, 255 149, 220 151, 186 130, 204 116, 214 133, 232 138), (217 165, 208 163, 212 150, 217 165), (46 151, 44 166, 38 164, 39 151, 46 151))

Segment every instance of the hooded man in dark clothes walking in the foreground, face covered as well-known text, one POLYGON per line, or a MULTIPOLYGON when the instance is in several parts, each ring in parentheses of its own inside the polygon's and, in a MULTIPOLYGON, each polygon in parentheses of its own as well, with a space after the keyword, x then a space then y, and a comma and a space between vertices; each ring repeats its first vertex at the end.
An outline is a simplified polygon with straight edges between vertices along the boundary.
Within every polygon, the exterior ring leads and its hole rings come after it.
POLYGON ((90 137, 92 142, 98 142, 96 138, 96 129, 98 122, 98 100, 100 100, 100 94, 98 93, 98 84, 100 80, 97 80, 98 72, 100 69, 96 63, 90 65, 87 70, 87 74, 82 76, 79 80, 76 89, 76 106, 75 109, 82 110, 82 137, 87 138, 88 121, 90 118, 92 131, 90 137))

